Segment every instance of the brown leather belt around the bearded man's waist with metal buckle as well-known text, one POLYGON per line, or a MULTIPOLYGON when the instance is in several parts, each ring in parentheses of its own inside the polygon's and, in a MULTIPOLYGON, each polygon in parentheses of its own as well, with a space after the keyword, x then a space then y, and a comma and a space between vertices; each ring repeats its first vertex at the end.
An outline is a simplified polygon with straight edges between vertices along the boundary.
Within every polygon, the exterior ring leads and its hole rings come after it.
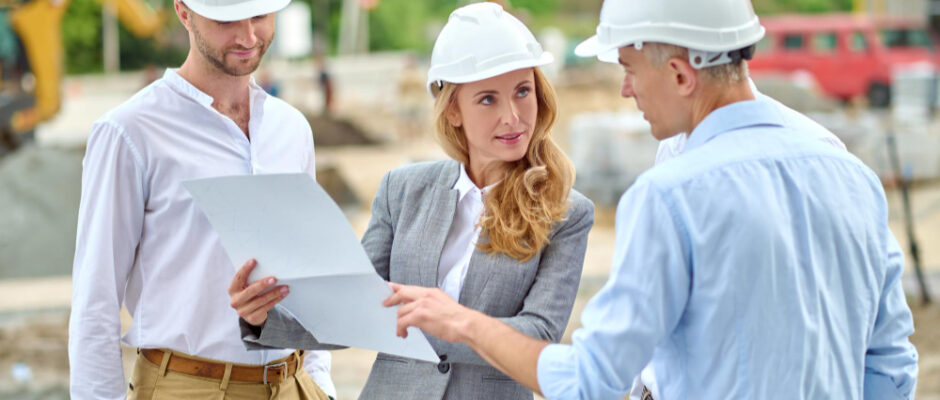
MULTIPOLYGON (((157 364, 157 366, 163 364, 164 350, 140 349, 140 354, 148 361, 157 364)), ((287 377, 293 376, 294 373, 297 372, 297 366, 303 365, 303 359, 304 355, 301 351, 299 362, 297 360, 297 353, 293 353, 287 358, 268 365, 259 365, 257 367, 232 365, 229 380, 265 384, 281 383, 287 379, 287 377)), ((166 369, 168 371, 210 379, 221 380, 225 376, 224 363, 196 360, 176 353, 170 354, 170 361, 167 363, 166 369)))

